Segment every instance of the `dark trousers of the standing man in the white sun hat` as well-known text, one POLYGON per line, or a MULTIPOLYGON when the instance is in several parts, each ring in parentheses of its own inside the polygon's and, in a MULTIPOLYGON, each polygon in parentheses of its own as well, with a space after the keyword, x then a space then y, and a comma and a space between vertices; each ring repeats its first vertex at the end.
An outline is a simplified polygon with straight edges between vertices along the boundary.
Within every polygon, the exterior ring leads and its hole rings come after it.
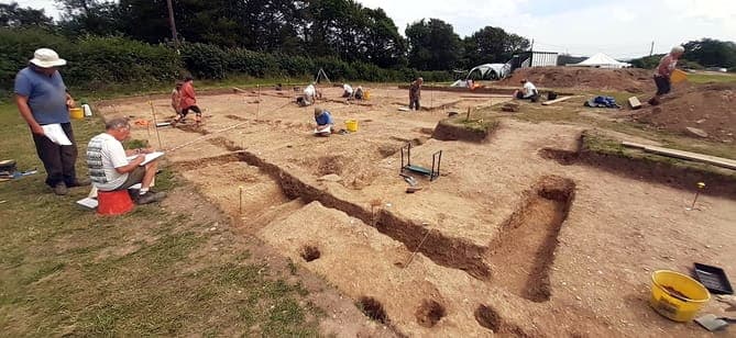
POLYGON ((74 165, 77 162, 77 143, 74 140, 72 123, 62 123, 62 129, 72 142, 70 146, 59 146, 46 136, 33 134, 39 158, 46 168, 46 184, 56 187, 64 182, 70 187, 76 183, 77 173, 74 165))

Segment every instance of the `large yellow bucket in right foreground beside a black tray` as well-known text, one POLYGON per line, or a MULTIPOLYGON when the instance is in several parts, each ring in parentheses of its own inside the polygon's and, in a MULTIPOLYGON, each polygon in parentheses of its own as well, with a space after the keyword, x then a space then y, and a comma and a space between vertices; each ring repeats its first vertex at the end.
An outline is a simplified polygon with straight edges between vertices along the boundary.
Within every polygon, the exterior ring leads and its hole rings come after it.
POLYGON ((690 322, 711 300, 703 284, 679 272, 658 270, 651 274, 649 305, 674 322, 690 322))

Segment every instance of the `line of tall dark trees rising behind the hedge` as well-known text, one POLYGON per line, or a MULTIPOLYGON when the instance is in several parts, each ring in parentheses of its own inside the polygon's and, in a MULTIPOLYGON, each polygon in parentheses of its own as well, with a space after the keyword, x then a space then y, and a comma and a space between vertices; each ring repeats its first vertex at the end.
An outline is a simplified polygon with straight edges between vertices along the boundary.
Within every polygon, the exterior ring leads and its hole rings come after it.
MULTIPOLYGON (((124 36, 173 44, 166 0, 57 0, 62 19, 0 4, 0 26, 41 26, 67 37, 124 36)), ((529 41, 485 26, 461 38, 439 19, 418 20, 399 34, 382 9, 353 0, 172 0, 177 40, 259 53, 338 57, 382 68, 471 68, 505 63, 529 41)))

